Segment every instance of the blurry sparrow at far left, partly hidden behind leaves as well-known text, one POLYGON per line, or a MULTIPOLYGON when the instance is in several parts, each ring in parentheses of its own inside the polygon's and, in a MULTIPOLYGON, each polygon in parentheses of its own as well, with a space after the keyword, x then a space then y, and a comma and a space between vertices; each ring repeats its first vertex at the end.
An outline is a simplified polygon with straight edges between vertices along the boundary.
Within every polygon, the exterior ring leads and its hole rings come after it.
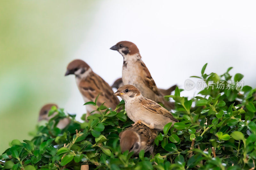
MULTIPOLYGON (((44 105, 40 109, 39 117, 38 117, 38 122, 40 122, 42 120, 49 121, 51 118, 53 118, 55 115, 57 115, 57 113, 55 112, 51 116, 48 116, 48 113, 49 113, 49 111, 51 110, 51 108, 53 106, 58 108, 58 106, 56 104, 49 103, 49 104, 44 105)), ((59 129, 64 129, 69 123, 70 123, 70 119, 64 118, 64 119, 61 119, 59 121, 59 123, 57 124, 56 127, 59 128, 59 129)))

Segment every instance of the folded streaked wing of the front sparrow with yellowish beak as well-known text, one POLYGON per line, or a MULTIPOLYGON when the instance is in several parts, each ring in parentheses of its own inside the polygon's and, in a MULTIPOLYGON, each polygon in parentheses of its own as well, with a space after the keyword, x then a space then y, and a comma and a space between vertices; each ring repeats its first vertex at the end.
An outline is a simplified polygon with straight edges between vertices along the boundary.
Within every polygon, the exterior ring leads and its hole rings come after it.
POLYGON ((147 99, 147 98, 141 98, 139 102, 143 107, 145 107, 152 113, 161 114, 161 115, 164 115, 164 116, 172 119, 175 122, 179 122, 177 119, 175 119, 172 116, 172 114, 168 110, 166 110, 164 107, 160 106, 155 101, 147 99))

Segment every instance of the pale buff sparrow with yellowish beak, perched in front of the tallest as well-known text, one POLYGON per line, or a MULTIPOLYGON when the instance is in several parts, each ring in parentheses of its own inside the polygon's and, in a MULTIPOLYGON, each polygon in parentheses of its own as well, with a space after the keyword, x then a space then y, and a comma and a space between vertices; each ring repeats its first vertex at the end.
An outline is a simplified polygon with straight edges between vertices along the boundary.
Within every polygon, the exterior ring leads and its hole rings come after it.
POLYGON ((135 122, 141 122, 151 129, 162 131, 169 122, 179 122, 164 107, 153 100, 143 97, 135 86, 124 85, 119 87, 116 96, 124 100, 127 116, 135 122))

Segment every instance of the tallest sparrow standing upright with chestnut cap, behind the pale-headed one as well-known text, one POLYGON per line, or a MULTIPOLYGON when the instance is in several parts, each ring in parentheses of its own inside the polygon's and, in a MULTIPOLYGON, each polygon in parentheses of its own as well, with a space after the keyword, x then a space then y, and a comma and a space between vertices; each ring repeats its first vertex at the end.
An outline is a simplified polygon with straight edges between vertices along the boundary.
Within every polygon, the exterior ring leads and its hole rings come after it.
POLYGON ((156 83, 141 60, 139 49, 135 44, 129 41, 120 41, 110 49, 117 50, 124 57, 122 70, 124 85, 134 85, 146 98, 161 102, 168 109, 174 108, 174 103, 166 101, 158 91, 156 83))

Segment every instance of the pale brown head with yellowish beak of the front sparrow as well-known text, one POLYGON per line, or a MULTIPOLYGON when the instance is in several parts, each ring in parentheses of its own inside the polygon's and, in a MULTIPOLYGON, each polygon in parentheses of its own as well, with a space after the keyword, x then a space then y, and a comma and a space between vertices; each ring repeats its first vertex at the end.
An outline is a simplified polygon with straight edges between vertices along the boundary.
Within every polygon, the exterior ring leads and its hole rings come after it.
POLYGON ((141 93, 133 85, 123 85, 117 89, 117 92, 114 93, 116 96, 120 96, 124 101, 130 100, 134 97, 140 96, 141 93))

